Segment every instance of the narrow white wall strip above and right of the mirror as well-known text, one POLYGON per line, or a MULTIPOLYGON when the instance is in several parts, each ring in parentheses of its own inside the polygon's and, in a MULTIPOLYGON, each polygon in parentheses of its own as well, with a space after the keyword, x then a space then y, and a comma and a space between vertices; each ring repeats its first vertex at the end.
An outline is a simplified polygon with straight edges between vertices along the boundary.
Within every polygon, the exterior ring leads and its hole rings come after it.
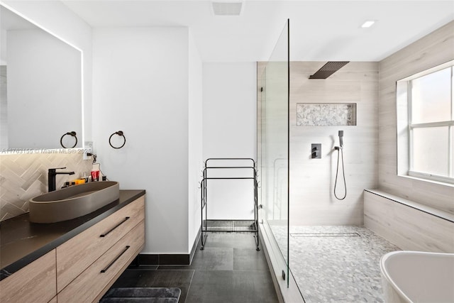
POLYGON ((60 1, 2 1, 2 4, 82 50, 84 133, 86 139, 92 138, 92 28, 60 1))

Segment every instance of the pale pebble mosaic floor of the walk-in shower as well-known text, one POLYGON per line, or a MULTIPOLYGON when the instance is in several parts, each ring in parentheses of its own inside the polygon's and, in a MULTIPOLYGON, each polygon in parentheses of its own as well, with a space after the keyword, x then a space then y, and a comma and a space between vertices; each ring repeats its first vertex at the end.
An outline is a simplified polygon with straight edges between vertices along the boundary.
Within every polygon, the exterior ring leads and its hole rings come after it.
MULTIPOLYGON (((272 230, 285 237, 286 228, 272 230)), ((397 246, 360 226, 291 226, 289 242, 290 270, 306 303, 384 302, 380 258, 397 246)))

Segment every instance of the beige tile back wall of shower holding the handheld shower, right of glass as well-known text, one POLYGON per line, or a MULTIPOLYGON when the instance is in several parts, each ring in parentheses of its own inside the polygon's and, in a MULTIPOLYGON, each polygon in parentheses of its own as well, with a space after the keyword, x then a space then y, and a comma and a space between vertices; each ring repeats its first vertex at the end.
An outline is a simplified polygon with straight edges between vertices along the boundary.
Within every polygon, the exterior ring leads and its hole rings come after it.
MULTIPOLYGON (((328 79, 309 79, 325 63, 290 65, 290 221, 362 225, 362 191, 378 184, 378 62, 350 62, 328 79), (357 125, 297 126, 297 103, 356 103, 357 125), (347 183, 342 201, 333 195, 339 130, 344 131, 347 183), (311 159, 311 143, 322 144, 321 159, 311 159)), ((342 179, 338 182, 342 193, 342 179)))

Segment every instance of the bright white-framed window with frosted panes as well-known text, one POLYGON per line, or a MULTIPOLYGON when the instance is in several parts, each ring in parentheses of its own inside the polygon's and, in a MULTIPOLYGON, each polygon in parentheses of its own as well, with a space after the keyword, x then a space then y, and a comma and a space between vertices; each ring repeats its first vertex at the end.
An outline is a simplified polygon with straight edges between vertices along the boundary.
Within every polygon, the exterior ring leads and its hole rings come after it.
POLYGON ((448 62, 397 82, 399 175, 454 184, 453 73, 448 62))

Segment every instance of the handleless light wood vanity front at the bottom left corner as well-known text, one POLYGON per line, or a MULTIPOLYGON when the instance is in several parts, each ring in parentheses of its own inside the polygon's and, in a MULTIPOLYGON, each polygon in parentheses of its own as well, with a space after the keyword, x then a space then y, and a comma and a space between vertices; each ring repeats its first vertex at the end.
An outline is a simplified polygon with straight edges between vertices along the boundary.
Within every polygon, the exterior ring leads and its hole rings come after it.
POLYGON ((0 302, 49 302, 57 294, 55 249, 0 281, 0 302))

